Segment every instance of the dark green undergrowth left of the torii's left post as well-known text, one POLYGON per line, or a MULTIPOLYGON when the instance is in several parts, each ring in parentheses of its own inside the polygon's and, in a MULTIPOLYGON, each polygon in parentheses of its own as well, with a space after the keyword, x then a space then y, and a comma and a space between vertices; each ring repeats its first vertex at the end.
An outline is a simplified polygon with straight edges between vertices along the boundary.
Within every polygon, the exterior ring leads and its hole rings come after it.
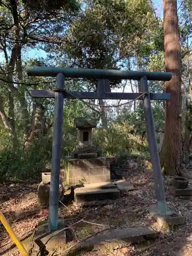
POLYGON ((41 171, 50 165, 51 141, 44 138, 34 142, 28 150, 17 148, 0 151, 0 182, 14 180, 39 180, 41 171))

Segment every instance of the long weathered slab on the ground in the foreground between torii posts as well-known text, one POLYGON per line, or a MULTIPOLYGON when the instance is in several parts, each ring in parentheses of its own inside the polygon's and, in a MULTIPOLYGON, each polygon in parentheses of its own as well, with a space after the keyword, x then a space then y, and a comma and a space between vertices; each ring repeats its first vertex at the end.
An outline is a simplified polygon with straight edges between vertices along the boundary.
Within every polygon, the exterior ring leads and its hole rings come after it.
MULTIPOLYGON (((156 237, 158 237, 158 233, 149 227, 105 230, 85 242, 79 243, 73 250, 78 251, 78 248, 91 246, 93 246, 92 249, 96 249, 102 247, 102 244, 104 244, 104 247, 108 249, 107 253, 109 253, 111 249, 113 252, 113 249, 117 248, 119 244, 129 245, 130 243, 134 244, 140 241, 155 239, 156 237)), ((68 253, 69 251, 66 252, 66 255, 68 253)))

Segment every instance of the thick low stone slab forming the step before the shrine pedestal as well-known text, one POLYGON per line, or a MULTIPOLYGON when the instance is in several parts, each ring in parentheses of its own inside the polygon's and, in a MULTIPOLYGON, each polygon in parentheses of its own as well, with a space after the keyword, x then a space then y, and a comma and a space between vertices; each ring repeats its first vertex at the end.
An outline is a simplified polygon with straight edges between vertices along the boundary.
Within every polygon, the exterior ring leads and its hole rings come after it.
POLYGON ((115 200, 120 198, 120 191, 117 188, 93 188, 80 187, 74 190, 74 198, 76 203, 90 202, 97 200, 115 200))

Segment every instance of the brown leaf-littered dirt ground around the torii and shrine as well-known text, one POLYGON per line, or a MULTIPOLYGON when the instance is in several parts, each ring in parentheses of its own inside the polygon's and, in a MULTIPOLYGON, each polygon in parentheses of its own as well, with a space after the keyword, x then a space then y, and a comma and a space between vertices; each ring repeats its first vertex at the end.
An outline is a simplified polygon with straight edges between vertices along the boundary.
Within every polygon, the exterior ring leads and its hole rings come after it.
MULTIPOLYGON (((112 249, 106 246, 108 243, 106 241, 102 246, 94 247, 90 251, 82 250, 68 255, 192 255, 191 197, 170 195, 168 178, 164 178, 167 207, 175 209, 184 216, 185 224, 174 229, 172 227, 160 229, 146 211, 146 207, 157 205, 152 170, 144 167, 130 169, 129 165, 125 165, 122 177, 133 183, 137 189, 122 193, 119 200, 89 205, 65 202, 67 208, 59 205, 59 217, 64 218, 68 226, 81 219, 103 225, 83 222, 74 225, 74 243, 102 229, 118 227, 150 226, 159 232, 159 237, 154 241, 135 245, 118 244, 112 249)), ((192 180, 189 183, 192 185, 192 180)), ((0 184, 0 208, 20 239, 30 236, 38 222, 48 218, 48 209, 40 209, 38 206, 37 186, 38 184, 0 184)), ((17 249, 11 247, 13 242, 2 224, 0 224, 0 234, 0 255, 19 255, 17 249)), ((54 255, 62 255, 62 252, 56 250, 54 255)))

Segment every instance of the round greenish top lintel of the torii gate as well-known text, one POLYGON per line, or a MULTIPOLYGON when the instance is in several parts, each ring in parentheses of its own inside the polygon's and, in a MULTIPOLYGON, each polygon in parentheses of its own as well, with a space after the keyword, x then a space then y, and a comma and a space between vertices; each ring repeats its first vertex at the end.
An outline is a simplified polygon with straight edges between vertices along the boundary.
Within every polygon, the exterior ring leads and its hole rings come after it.
POLYGON ((75 69, 57 67, 27 67, 29 76, 57 76, 62 73, 65 77, 75 78, 105 78, 105 79, 133 79, 140 80, 146 77, 147 80, 169 81, 172 73, 169 72, 147 72, 147 71, 124 71, 124 70, 102 70, 102 69, 75 69))

